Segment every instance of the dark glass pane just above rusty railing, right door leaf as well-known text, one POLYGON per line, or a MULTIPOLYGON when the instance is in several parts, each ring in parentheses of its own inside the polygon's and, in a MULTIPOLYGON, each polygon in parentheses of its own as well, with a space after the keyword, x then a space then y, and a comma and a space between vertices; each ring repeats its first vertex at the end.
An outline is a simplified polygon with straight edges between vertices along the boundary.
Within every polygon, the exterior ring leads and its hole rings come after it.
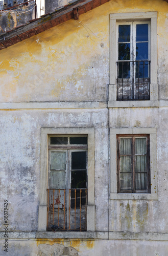
POLYGON ((71 172, 71 188, 86 187, 86 170, 75 170, 71 172))

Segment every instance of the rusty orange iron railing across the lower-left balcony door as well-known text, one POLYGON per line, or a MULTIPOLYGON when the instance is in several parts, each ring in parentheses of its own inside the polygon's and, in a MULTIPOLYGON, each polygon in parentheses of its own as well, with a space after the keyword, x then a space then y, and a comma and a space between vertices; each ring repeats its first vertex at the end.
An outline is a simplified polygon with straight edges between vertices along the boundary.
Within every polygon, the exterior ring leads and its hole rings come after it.
POLYGON ((86 231, 87 189, 47 189, 47 231, 86 231))

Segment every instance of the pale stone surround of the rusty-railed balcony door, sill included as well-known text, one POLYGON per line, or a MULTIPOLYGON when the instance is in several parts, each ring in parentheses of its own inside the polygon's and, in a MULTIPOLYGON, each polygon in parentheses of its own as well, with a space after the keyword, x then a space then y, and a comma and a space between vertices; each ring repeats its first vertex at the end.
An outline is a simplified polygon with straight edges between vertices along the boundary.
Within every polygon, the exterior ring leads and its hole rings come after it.
POLYGON ((94 127, 42 127, 40 163, 40 203, 37 238, 88 238, 95 231, 94 205, 94 127), (88 187, 87 187, 87 231, 47 232, 47 184, 48 184, 48 138, 49 135, 87 135, 88 137, 88 187))

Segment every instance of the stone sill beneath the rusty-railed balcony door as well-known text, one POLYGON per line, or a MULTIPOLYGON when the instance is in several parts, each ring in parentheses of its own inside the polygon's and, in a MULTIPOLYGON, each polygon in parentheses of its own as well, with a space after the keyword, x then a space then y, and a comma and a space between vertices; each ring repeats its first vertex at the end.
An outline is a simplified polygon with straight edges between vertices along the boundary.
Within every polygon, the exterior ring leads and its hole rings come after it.
POLYGON ((78 231, 57 231, 57 232, 47 232, 47 231, 40 231, 36 232, 36 238, 48 238, 48 239, 54 239, 54 238, 63 238, 63 239, 71 239, 71 238, 93 238, 94 232, 93 231, 85 231, 85 232, 78 232, 78 231))

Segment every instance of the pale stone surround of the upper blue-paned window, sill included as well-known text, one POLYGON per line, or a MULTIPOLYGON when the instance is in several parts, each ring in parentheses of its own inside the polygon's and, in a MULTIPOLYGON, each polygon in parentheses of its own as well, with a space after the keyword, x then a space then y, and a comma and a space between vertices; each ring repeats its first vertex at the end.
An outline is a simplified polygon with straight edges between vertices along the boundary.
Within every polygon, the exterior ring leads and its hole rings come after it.
POLYGON ((158 106, 157 85, 157 12, 113 13, 110 14, 110 84, 109 108, 149 107, 158 106), (151 23, 151 65, 150 65, 150 100, 117 101, 116 61, 117 61, 117 23, 118 22, 143 22, 151 23))

